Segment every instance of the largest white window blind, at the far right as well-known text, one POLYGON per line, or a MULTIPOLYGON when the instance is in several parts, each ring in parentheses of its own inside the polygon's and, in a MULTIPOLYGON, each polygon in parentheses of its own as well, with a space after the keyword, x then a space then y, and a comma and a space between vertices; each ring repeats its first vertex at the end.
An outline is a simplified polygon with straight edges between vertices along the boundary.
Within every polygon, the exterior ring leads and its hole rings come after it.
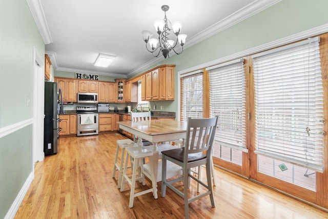
POLYGON ((323 171, 319 38, 253 56, 255 153, 323 171))

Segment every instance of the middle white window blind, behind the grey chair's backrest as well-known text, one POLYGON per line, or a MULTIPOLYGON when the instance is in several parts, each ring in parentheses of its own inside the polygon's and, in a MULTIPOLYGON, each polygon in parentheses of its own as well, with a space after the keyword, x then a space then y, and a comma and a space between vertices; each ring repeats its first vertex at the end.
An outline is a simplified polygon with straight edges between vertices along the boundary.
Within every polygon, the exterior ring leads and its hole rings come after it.
POLYGON ((214 141, 248 152, 245 123, 245 75, 243 59, 209 67, 210 116, 218 115, 214 141))

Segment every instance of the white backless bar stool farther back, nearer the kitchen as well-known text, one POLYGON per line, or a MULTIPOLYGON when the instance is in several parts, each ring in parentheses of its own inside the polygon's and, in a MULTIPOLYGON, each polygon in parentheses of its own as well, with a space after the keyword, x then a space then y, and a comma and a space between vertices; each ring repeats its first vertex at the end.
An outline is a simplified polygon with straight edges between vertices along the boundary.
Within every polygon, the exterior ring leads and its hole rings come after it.
MULTIPOLYGON (((120 188, 121 186, 121 181, 122 181, 122 173, 123 173, 123 164, 124 164, 124 155, 125 155, 125 149, 127 147, 133 146, 134 142, 130 139, 124 139, 124 140, 117 140, 116 141, 116 155, 115 155, 115 161, 114 161, 114 169, 113 169, 113 175, 112 177, 115 177, 116 170, 118 170, 118 180, 117 180, 117 189, 120 188), (122 149, 121 151, 121 160, 118 164, 117 158, 118 158, 118 152, 119 149, 122 149)), ((130 166, 131 167, 131 166, 130 166)), ((129 167, 127 167, 129 168, 129 167)))

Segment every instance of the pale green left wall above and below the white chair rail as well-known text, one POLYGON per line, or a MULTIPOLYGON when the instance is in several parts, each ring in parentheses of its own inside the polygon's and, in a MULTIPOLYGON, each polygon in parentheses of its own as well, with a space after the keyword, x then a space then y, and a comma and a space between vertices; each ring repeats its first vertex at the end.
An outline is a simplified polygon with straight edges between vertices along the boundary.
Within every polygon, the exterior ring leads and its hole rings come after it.
MULTIPOLYGON (((33 118, 33 46, 44 56, 45 45, 27 1, 0 0, 1 131, 33 118)), ((28 125, 0 138, 0 218, 31 172, 32 125, 28 125)))

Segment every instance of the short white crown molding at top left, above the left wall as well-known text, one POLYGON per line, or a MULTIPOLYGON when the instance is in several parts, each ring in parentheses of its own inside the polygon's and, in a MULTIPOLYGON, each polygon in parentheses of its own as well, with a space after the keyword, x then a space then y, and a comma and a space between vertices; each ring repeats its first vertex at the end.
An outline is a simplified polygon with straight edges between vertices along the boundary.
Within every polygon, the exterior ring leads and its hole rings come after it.
POLYGON ((26 0, 30 7, 37 29, 39 30, 45 45, 52 43, 52 38, 46 22, 40 0, 26 0))

